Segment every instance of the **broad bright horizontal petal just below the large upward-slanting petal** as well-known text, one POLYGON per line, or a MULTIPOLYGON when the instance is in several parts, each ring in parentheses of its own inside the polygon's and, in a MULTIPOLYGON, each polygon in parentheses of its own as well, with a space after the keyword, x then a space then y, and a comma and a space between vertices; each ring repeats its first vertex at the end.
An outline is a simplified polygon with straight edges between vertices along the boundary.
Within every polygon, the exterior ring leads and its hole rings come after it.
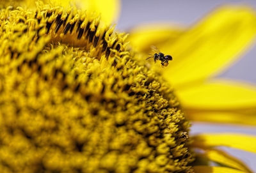
POLYGON ((256 108, 256 87, 230 80, 212 80, 177 90, 185 109, 229 110, 256 108))

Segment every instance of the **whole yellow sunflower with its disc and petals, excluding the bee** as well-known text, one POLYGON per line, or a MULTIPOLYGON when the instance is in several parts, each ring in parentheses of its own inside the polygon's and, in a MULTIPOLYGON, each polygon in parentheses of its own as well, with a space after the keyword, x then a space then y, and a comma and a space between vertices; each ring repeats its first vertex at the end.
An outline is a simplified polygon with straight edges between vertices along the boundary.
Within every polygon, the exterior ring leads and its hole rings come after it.
POLYGON ((252 172, 216 146, 255 152, 255 137, 189 134, 190 121, 255 125, 255 88, 212 79, 252 43, 252 10, 127 37, 110 25, 118 1, 1 6, 2 172, 252 172), (145 61, 150 45, 175 61, 145 61))

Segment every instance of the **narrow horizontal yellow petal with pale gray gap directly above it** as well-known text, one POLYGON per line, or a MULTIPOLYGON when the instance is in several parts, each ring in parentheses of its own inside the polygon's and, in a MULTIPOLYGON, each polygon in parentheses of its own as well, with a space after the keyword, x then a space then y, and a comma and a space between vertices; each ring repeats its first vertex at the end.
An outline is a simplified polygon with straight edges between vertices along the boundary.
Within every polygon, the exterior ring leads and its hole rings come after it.
POLYGON ((209 133, 195 135, 195 147, 227 146, 256 153, 256 137, 238 133, 209 133))

